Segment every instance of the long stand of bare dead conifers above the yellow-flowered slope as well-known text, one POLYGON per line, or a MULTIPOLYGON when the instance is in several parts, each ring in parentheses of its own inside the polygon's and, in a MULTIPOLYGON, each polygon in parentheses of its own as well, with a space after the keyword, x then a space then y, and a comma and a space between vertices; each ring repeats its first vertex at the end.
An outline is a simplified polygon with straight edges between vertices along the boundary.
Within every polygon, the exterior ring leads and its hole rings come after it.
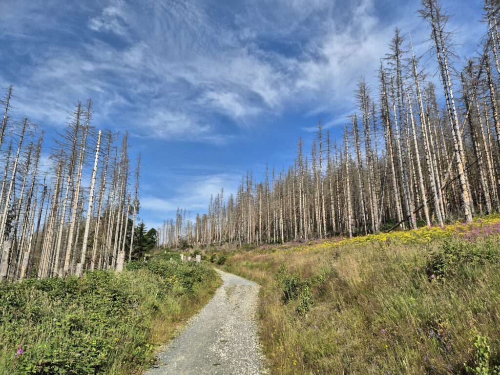
POLYGON ((351 237, 470 223, 474 215, 498 211, 498 6, 485 0, 477 55, 460 61, 445 9, 422 0, 419 15, 435 71, 425 70, 411 35, 396 28, 377 85, 357 84, 342 139, 331 139, 319 121, 310 149, 298 141, 293 165, 266 168, 264 181, 248 171, 235 195, 221 189, 211 197, 207 213, 178 209, 157 228, 158 245, 351 237))

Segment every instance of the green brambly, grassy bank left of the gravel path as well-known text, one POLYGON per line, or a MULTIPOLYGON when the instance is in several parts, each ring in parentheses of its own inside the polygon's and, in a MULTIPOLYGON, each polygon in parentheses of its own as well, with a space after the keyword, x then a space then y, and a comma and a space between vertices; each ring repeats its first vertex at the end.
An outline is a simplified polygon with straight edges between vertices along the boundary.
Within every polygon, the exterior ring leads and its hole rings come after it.
POLYGON ((207 264, 170 256, 119 274, 1 283, 0 374, 139 373, 220 284, 207 264))

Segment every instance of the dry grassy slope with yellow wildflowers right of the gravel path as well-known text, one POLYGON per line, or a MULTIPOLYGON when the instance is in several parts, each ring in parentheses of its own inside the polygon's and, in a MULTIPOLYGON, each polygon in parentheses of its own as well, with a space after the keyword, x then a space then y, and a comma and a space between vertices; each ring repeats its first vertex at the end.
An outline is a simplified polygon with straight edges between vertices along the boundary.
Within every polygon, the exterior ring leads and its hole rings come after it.
POLYGON ((459 373, 471 331, 500 363, 500 218, 260 246, 224 269, 262 285, 273 373, 459 373), (461 233, 461 234, 460 234, 461 233))

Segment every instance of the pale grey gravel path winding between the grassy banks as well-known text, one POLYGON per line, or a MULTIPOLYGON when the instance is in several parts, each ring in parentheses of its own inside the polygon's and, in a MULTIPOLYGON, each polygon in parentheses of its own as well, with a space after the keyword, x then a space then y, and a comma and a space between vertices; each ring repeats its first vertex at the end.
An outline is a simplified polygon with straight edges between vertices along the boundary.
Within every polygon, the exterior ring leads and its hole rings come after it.
POLYGON ((259 286, 217 270, 223 284, 146 375, 266 373, 255 314, 259 286))

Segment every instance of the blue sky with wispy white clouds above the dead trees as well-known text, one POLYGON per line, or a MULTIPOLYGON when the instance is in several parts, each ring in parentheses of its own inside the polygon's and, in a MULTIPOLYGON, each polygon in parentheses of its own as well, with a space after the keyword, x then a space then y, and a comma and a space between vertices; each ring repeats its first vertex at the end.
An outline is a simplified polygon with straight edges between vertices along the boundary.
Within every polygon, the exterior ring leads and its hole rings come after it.
MULTIPOLYGON (((485 31, 480 0, 446 0, 461 58, 485 31)), ((241 175, 293 162, 319 118, 333 137, 356 82, 376 85, 397 25, 425 54, 419 1, 0 1, 0 87, 51 137, 77 100, 142 153, 140 218, 206 211, 241 175)), ((425 61, 427 57, 422 59, 425 61)), ((429 60, 430 73, 433 62, 429 60)), ((437 79, 437 78, 435 78, 437 79)), ((440 87, 439 87, 440 88, 440 87)), ((48 153, 49 144, 45 144, 48 153)), ((134 163, 134 162, 132 162, 134 163)))

